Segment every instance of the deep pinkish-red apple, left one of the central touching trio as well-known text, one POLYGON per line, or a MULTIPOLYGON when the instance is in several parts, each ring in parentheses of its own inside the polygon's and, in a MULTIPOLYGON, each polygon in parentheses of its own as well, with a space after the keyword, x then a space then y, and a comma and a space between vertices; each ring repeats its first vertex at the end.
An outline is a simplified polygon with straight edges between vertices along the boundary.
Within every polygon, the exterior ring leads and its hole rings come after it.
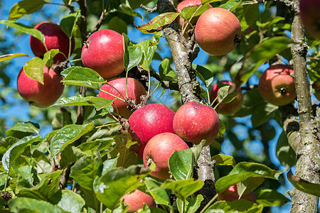
POLYGON ((138 157, 143 158, 146 143, 159 133, 174 133, 174 111, 161 104, 146 104, 134 111, 128 119, 132 129, 141 141, 138 157))

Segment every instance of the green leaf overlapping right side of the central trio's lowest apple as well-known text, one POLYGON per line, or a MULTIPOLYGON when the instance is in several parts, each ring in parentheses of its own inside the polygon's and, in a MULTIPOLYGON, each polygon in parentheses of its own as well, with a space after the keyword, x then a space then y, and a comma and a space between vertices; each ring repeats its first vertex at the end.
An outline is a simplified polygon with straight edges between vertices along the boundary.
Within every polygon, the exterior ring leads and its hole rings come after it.
POLYGON ((169 170, 176 180, 186 180, 193 177, 193 166, 196 164, 203 143, 182 151, 174 151, 169 158, 169 170))

